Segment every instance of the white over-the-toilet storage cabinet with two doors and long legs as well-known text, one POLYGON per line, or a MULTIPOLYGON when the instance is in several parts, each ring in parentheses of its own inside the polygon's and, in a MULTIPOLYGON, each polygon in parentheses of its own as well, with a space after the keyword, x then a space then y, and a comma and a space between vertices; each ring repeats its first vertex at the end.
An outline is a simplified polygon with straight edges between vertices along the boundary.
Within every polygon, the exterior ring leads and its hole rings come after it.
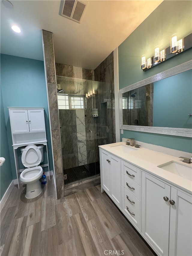
POLYGON ((48 167, 49 170, 44 108, 9 107, 9 116, 13 140, 13 152, 15 158, 17 183, 19 187, 18 177, 20 175, 20 172, 22 172, 23 170, 20 163, 20 147, 32 144, 43 144, 45 146, 44 149, 46 148, 48 163, 44 164, 42 167, 48 167))

